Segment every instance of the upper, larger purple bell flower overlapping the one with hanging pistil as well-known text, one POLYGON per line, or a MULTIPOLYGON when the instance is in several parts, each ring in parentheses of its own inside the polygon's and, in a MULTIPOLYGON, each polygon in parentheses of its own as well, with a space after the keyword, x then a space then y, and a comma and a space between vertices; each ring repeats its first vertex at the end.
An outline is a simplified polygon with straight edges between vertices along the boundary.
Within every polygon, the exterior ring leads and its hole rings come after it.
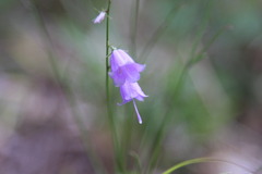
POLYGON ((109 76, 114 79, 115 86, 119 87, 124 83, 136 83, 145 65, 135 63, 127 52, 116 49, 111 53, 110 67, 109 76))

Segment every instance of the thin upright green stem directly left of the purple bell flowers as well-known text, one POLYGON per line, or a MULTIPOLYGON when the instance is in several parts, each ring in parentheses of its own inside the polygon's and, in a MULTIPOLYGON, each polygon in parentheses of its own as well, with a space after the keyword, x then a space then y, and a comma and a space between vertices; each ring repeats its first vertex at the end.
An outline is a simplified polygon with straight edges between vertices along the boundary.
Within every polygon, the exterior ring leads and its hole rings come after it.
POLYGON ((116 123, 114 120, 114 114, 112 114, 112 107, 111 107, 111 102, 110 102, 110 90, 109 90, 109 24, 110 24, 110 7, 111 7, 111 0, 108 0, 108 7, 106 10, 107 13, 107 17, 106 17, 106 102, 107 102, 107 115, 108 115, 108 120, 109 120, 109 125, 110 125, 110 129, 112 133, 112 144, 114 144, 114 153, 115 153, 115 158, 116 158, 116 165, 117 165, 117 170, 120 173, 123 173, 123 160, 121 159, 121 150, 120 150, 120 146, 118 142, 118 138, 117 138, 117 128, 116 128, 116 123))

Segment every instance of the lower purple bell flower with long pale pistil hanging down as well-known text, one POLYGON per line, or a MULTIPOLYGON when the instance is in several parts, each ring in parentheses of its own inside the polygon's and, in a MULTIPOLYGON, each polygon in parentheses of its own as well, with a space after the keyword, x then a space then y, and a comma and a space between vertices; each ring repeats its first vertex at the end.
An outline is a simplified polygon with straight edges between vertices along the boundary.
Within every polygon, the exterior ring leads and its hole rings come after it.
POLYGON ((135 112, 138 115, 139 123, 142 124, 142 119, 140 116, 140 113, 139 113, 139 110, 138 110, 134 99, 136 99, 139 101, 144 101, 144 98, 148 97, 148 96, 146 96, 142 91, 142 89, 138 83, 129 83, 129 82, 127 82, 122 86, 120 86, 120 94, 122 97, 122 103, 120 103, 120 105, 124 104, 129 101, 133 101, 133 105, 134 105, 134 109, 135 109, 135 112))

